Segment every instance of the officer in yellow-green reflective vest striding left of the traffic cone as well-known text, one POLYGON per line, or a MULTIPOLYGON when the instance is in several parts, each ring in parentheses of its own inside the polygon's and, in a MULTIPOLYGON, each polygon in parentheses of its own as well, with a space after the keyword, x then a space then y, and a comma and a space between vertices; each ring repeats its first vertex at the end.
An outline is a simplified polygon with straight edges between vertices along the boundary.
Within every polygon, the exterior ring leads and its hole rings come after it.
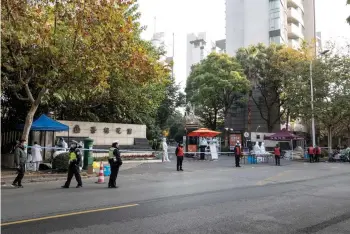
POLYGON ((79 171, 79 165, 82 158, 80 148, 82 148, 81 145, 78 145, 77 142, 73 142, 71 148, 69 149, 68 177, 66 183, 62 186, 62 188, 69 188, 73 175, 78 182, 77 188, 83 187, 83 182, 81 181, 79 171))

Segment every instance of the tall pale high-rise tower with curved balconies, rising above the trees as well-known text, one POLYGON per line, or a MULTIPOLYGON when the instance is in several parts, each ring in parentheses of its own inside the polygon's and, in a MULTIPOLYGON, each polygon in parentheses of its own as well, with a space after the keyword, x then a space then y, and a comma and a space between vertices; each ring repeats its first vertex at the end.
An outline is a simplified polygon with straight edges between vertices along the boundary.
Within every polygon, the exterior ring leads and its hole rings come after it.
POLYGON ((315 35, 314 0, 226 0, 226 51, 274 42, 298 48, 315 35))

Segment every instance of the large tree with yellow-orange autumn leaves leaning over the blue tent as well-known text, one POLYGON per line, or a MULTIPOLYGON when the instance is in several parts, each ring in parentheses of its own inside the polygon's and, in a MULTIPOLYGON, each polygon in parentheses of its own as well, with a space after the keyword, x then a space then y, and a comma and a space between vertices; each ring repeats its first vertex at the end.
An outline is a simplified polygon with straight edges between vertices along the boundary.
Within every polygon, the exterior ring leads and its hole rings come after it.
MULTIPOLYGON (((69 111, 83 113, 95 105, 80 107, 79 102, 101 105, 111 93, 110 101, 115 101, 118 84, 135 91, 124 107, 144 101, 145 96, 135 94, 145 89, 159 90, 168 69, 150 43, 140 39, 143 28, 136 22, 136 10, 135 1, 3 2, 2 87, 30 105, 22 138, 28 138, 43 100, 78 103, 69 111)), ((124 118, 132 116, 118 111, 124 118)))

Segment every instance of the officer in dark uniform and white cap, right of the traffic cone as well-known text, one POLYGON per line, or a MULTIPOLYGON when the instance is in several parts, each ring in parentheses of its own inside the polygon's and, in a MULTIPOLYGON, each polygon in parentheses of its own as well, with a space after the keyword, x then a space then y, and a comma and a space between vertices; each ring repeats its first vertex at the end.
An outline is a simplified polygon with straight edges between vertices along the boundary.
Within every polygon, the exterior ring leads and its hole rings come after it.
POLYGON ((119 167, 123 164, 120 157, 119 141, 114 141, 109 149, 109 165, 111 166, 111 175, 109 176, 108 188, 117 188, 116 180, 119 173, 119 167))

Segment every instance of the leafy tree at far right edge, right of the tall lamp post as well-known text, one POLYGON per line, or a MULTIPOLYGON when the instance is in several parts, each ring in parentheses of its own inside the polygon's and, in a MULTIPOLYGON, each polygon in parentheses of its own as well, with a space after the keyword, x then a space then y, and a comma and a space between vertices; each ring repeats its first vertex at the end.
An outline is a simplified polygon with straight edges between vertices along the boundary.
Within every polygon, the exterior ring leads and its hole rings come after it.
POLYGON ((333 51, 319 59, 314 70, 315 83, 321 83, 324 87, 323 90, 316 90, 315 118, 327 131, 328 147, 331 150, 336 129, 339 126, 346 129, 350 125, 350 53, 333 51))

